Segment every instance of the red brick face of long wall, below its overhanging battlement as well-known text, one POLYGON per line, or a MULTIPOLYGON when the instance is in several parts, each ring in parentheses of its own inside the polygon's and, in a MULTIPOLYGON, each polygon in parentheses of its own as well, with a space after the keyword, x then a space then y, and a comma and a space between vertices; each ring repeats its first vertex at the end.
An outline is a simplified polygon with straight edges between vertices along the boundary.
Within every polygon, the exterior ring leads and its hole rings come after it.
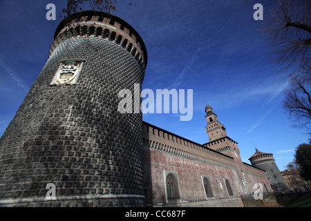
MULTIPOLYGON (((236 179, 236 171, 225 165, 217 165, 207 162, 200 162, 185 157, 180 157, 171 153, 165 153, 156 149, 149 149, 146 146, 145 154, 150 155, 150 177, 147 178, 148 198, 146 204, 160 206, 162 204, 187 204, 197 202, 198 206, 212 206, 209 201, 222 201, 224 199, 239 198, 241 190, 236 179), (165 175, 174 172, 178 175, 178 187, 180 198, 178 200, 168 200, 166 195, 165 175), (202 177, 208 177, 211 182, 213 196, 208 197, 202 182, 202 177), (150 179, 150 180, 148 180, 150 179), (230 196, 225 187, 225 179, 229 179, 234 195, 230 196), (221 185, 221 186, 220 186, 221 185), (199 203, 200 202, 200 203, 199 203)), ((148 164, 148 163, 147 163, 148 164)), ((229 200, 230 201, 230 200, 229 200)), ((235 199, 232 202, 237 203, 235 199)), ((213 202, 214 204, 214 202, 213 202)), ((238 204, 222 204, 219 206, 242 206, 238 204)), ((185 205, 188 206, 188 205, 185 205)))

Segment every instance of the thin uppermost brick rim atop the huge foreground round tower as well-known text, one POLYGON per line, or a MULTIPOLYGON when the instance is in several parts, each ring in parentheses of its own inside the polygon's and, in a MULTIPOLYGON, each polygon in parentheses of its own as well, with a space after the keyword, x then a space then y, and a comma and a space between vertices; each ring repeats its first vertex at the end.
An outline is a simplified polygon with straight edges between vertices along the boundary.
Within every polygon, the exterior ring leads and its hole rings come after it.
POLYGON ((54 40, 57 38, 57 36, 59 35, 59 33, 62 31, 62 29, 69 24, 71 21, 73 21, 73 19, 77 18, 77 17, 83 17, 83 16, 101 16, 103 18, 109 18, 113 21, 116 21, 117 23, 122 24, 123 26, 125 26, 127 29, 129 29, 133 35, 135 35, 135 37, 137 38, 138 42, 140 42, 140 46, 142 49, 142 52, 144 53, 144 64, 145 67, 147 66, 147 60, 148 60, 148 55, 147 55, 147 48, 146 45, 144 44, 144 41, 142 40, 142 37, 138 34, 138 32, 135 30, 135 28, 133 28, 129 23, 127 23, 126 21, 124 21, 123 19, 121 19, 120 17, 117 17, 115 15, 112 15, 108 12, 101 12, 101 11, 97 11, 97 10, 83 10, 80 12, 75 12, 72 15, 69 15, 68 17, 64 18, 59 25, 57 26, 56 30, 55 30, 55 35, 54 35, 54 40))

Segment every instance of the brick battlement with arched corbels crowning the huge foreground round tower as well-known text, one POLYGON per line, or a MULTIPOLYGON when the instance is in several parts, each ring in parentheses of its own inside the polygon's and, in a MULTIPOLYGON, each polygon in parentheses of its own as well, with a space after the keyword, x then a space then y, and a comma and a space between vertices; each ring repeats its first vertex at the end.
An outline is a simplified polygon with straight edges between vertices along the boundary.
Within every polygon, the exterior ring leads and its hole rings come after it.
POLYGON ((124 48, 138 62, 144 73, 147 66, 146 46, 138 32, 126 21, 106 12, 77 12, 59 23, 50 56, 59 44, 73 37, 98 38, 124 48))

